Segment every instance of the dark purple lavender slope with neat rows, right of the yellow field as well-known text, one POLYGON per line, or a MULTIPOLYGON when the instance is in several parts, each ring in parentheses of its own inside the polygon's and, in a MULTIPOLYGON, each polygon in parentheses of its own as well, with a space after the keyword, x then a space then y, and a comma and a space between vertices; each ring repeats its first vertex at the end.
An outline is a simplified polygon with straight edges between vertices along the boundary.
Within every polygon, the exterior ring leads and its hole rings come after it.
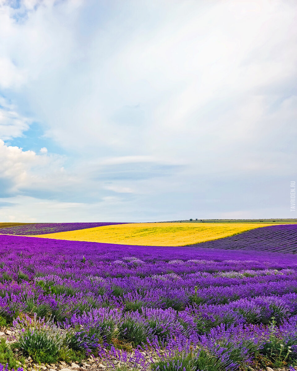
POLYGON ((256 228, 235 236, 203 242, 197 246, 210 249, 256 250, 296 254, 297 224, 256 228))

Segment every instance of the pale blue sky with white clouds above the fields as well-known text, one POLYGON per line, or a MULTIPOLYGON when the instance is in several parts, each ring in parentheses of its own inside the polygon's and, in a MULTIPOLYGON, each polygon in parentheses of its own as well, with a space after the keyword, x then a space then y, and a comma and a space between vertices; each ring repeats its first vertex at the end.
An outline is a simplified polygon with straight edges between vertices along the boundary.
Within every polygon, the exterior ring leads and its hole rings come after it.
POLYGON ((295 0, 0 0, 0 221, 296 218, 295 0))

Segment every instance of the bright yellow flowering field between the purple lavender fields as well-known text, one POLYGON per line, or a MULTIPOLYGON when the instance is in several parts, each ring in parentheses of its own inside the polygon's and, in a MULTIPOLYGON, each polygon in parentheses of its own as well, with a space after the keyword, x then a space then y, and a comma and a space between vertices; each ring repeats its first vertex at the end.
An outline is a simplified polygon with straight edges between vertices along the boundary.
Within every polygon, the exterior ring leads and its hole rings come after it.
MULTIPOLYGON (((69 232, 40 234, 39 238, 147 246, 184 246, 232 236, 271 223, 131 223, 69 232)), ((33 236, 31 236, 33 237, 33 236)))

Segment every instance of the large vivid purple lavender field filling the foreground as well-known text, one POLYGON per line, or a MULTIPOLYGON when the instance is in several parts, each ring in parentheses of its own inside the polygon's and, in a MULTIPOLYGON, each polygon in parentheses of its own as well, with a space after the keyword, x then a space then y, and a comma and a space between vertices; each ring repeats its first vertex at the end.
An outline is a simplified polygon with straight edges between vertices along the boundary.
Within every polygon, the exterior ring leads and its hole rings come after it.
POLYGON ((293 367, 297 256, 203 246, 0 236, 14 357, 30 355, 28 369, 91 354, 110 370, 293 367))

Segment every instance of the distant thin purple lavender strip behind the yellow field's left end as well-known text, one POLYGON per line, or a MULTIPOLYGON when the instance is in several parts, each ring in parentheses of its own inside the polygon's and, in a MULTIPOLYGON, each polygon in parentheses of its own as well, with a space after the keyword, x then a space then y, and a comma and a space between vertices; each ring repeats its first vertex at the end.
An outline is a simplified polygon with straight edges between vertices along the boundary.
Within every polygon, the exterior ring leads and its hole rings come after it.
POLYGON ((75 231, 93 227, 111 226, 127 223, 34 223, 22 226, 1 228, 1 234, 17 234, 19 236, 34 236, 36 234, 75 231))

